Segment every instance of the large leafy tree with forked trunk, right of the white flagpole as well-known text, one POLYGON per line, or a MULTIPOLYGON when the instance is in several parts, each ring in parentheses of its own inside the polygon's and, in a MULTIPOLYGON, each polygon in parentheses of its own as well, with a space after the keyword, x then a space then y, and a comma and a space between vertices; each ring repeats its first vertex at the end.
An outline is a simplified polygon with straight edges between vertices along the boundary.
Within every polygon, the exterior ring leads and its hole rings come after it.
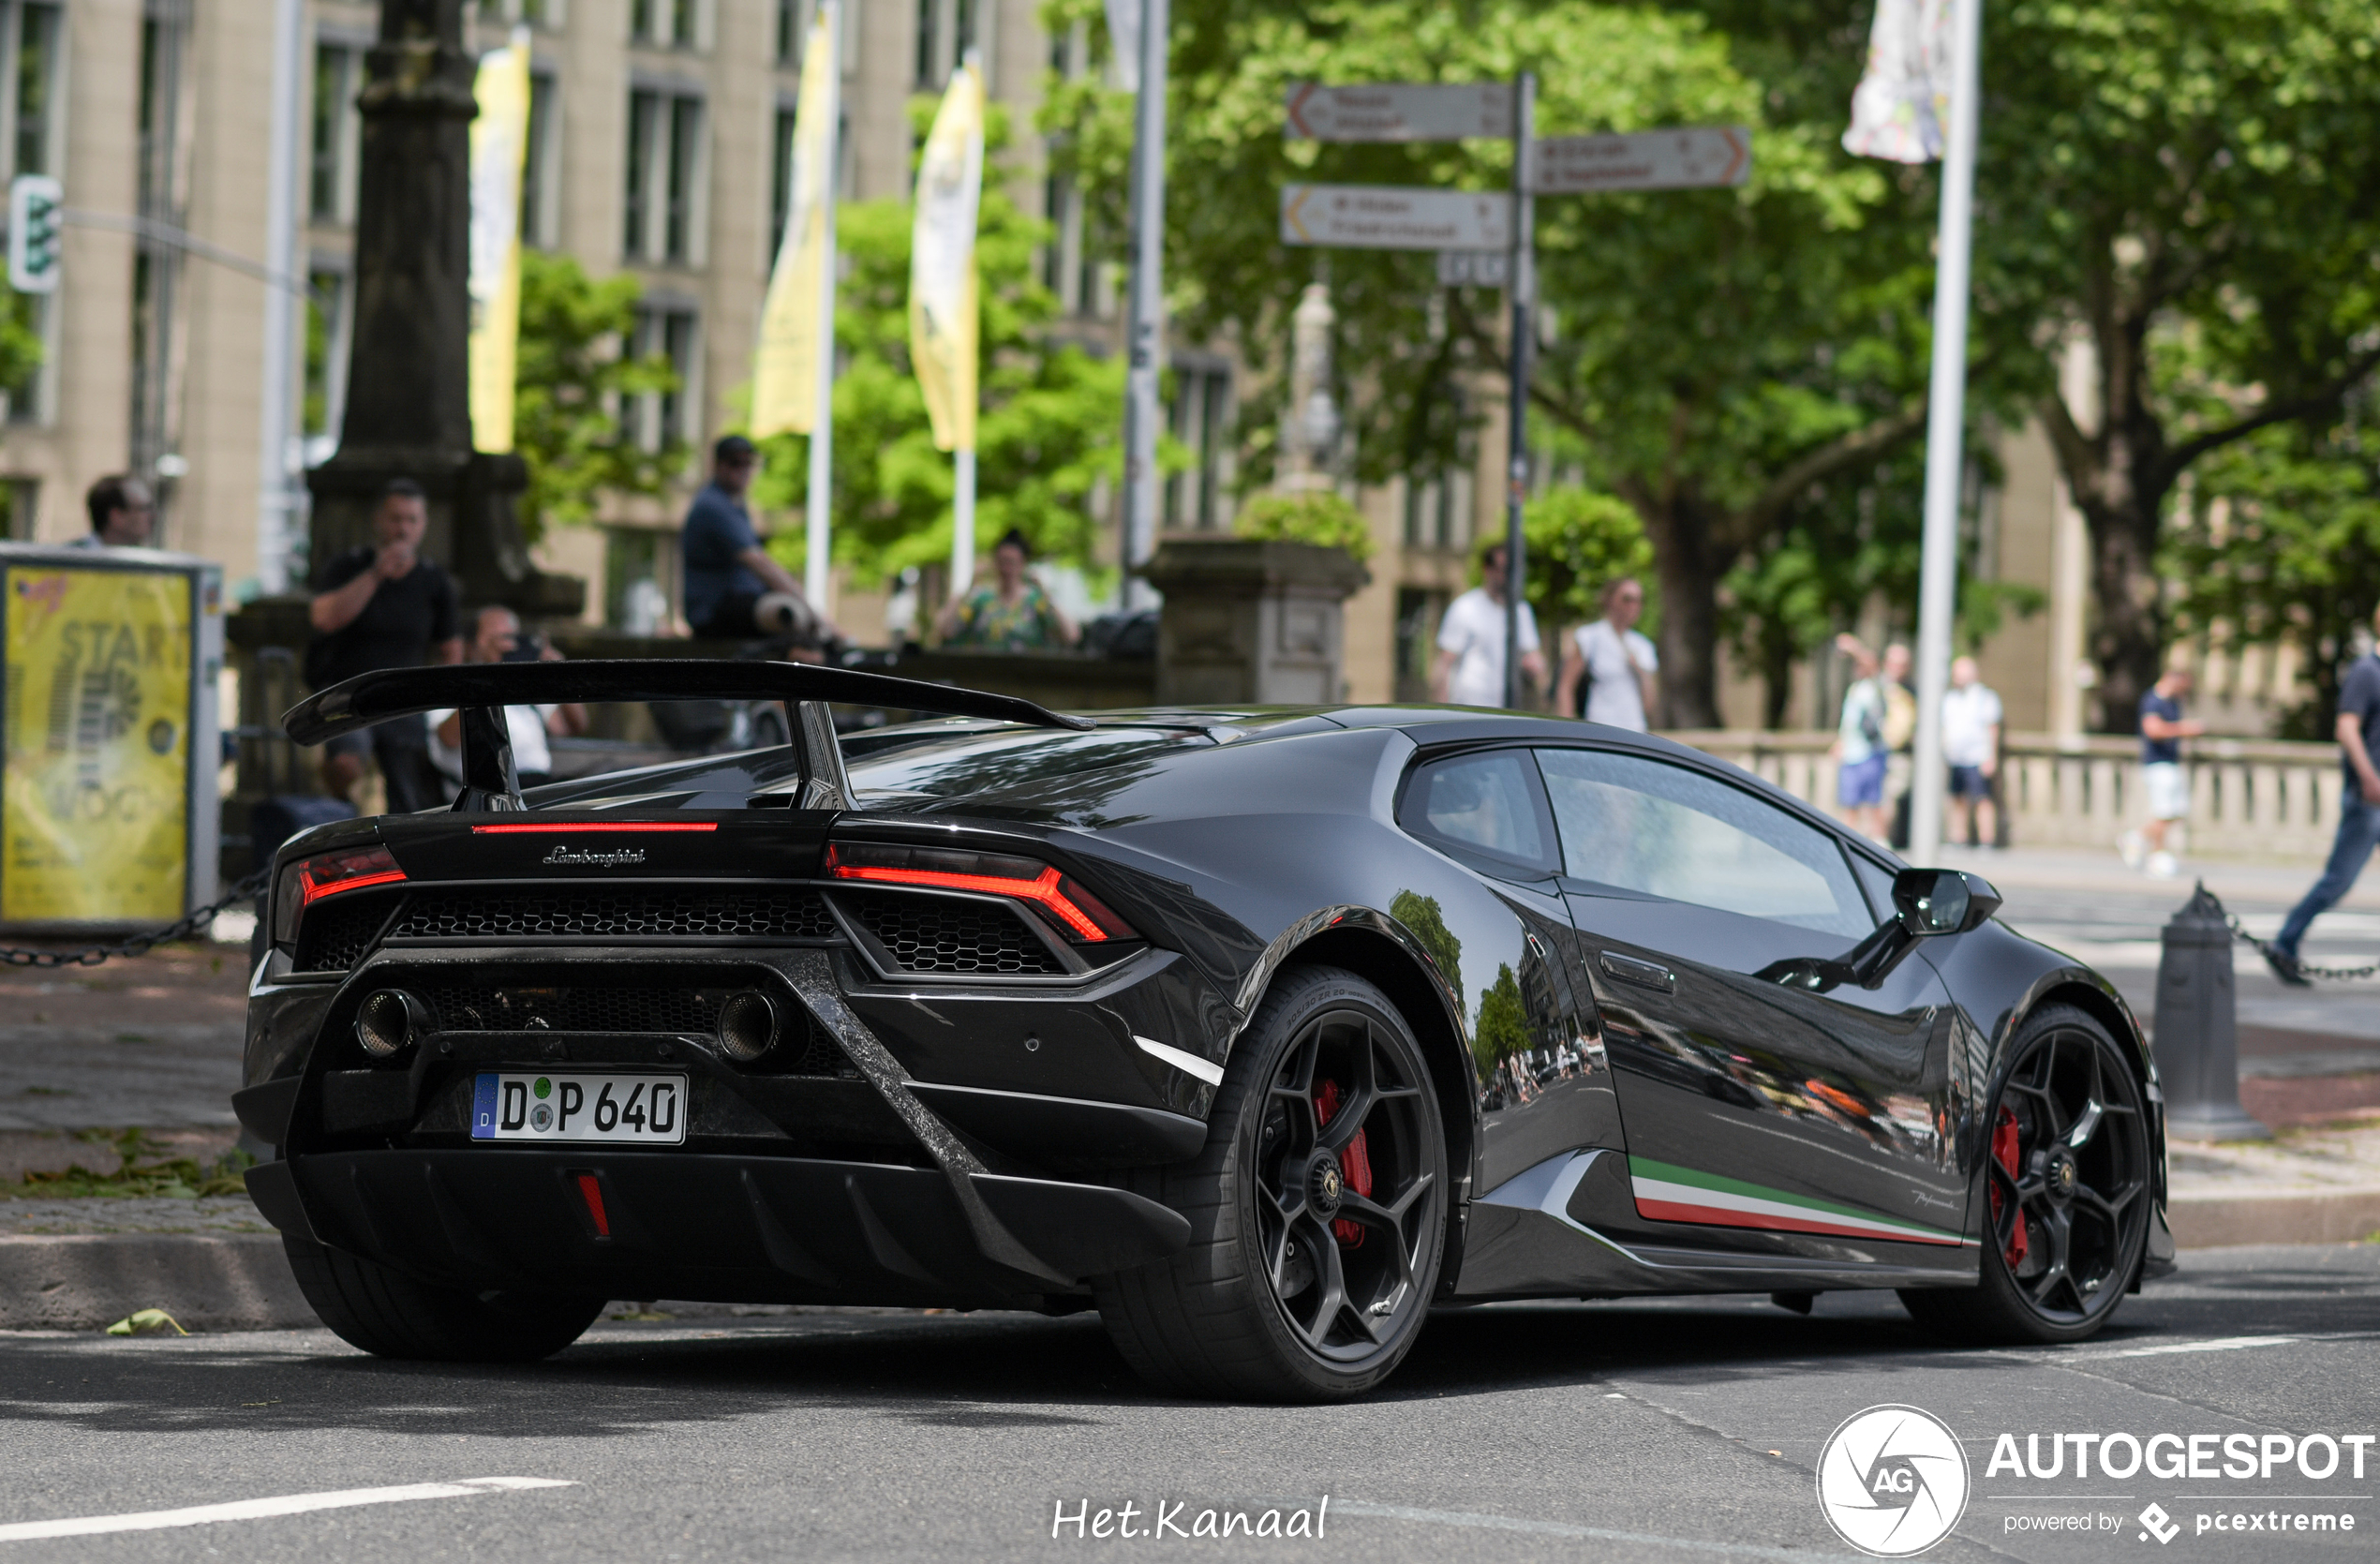
MULTIPOLYGON (((2182 474, 2266 428, 2328 428, 2380 364, 2380 10, 2013 0, 1985 17, 1978 312, 2090 521, 2099 726, 2130 731, 2168 628, 2159 540, 2182 474), (2075 400, 2071 340, 2092 348, 2075 400)), ((2297 452, 2320 464, 2325 440, 2297 452)))

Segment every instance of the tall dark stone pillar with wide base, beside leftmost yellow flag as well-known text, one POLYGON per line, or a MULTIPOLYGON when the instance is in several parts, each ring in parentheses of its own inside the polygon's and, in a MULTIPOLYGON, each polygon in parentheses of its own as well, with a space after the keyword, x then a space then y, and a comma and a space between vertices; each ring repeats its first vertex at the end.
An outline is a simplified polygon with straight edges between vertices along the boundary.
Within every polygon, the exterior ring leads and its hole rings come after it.
POLYGON ((428 555, 466 602, 576 614, 585 583, 528 559, 516 455, 471 450, 471 100, 462 0, 381 0, 362 112, 355 331, 338 455, 307 474, 314 559, 367 543, 390 478, 428 493, 428 555))

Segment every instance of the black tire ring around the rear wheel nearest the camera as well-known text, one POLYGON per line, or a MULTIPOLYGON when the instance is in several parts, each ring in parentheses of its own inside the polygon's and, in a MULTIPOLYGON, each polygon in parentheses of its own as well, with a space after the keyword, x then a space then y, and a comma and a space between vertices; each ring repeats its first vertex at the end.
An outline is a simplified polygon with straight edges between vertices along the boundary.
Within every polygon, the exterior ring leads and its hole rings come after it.
POLYGON ((1233 1055, 1235 1057, 1226 1078, 1228 1102, 1223 1105, 1230 1119, 1230 1136, 1228 1152, 1219 1169, 1223 1176, 1223 1188, 1219 1190, 1223 1197, 1219 1205, 1223 1231, 1216 1233, 1216 1238, 1228 1243, 1245 1288, 1242 1307, 1247 1307, 1257 1319, 1257 1326, 1283 1371, 1295 1376, 1309 1395, 1361 1395, 1388 1378, 1414 1347, 1414 1338, 1421 1335, 1421 1324, 1428 1319, 1428 1300, 1438 1288, 1438 1266, 1445 1255, 1447 1133, 1440 1119, 1428 1059, 1423 1057, 1411 1026, 1407 1026, 1404 1016, 1397 1014, 1397 1007, 1388 1002, 1388 995, 1354 974, 1333 969, 1285 974, 1283 981, 1276 983, 1273 995, 1269 995, 1264 1007, 1259 1007, 1247 1033, 1242 1033, 1242 1047, 1233 1050, 1233 1055), (1290 1321, 1283 1316, 1280 1300, 1273 1297, 1273 1285, 1259 1243, 1261 1228, 1257 1226, 1257 1200, 1261 1197, 1261 1185, 1257 1181, 1257 1140, 1264 1133, 1269 1086, 1280 1071, 1283 1057, 1304 1028, 1316 1016, 1335 1009, 1364 1012, 1383 1031, 1383 1036, 1395 1038, 1395 1050, 1402 1055, 1399 1064, 1421 1086, 1421 1145, 1428 1164, 1426 1171, 1435 1181, 1438 1190, 1438 1197, 1430 1202, 1433 1226, 1423 1235, 1421 1255, 1414 1262, 1414 1295, 1418 1307, 1407 1305, 1402 1319, 1397 1321, 1397 1333, 1354 1364, 1338 1364, 1316 1357, 1290 1328, 1290 1321))

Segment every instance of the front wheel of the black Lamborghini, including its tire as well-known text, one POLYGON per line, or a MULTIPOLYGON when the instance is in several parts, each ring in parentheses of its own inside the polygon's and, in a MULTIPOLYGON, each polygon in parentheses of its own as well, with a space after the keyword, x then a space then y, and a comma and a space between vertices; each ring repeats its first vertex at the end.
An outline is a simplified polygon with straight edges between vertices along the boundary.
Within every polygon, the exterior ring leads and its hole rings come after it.
POLYGON ((1925 1326, 1966 1340, 2094 1335, 2140 1271, 2154 1193, 2140 1076, 2092 1016, 2042 1009, 2011 1047, 1983 1145, 1985 1255, 1975 1288, 1904 1290, 1925 1326))

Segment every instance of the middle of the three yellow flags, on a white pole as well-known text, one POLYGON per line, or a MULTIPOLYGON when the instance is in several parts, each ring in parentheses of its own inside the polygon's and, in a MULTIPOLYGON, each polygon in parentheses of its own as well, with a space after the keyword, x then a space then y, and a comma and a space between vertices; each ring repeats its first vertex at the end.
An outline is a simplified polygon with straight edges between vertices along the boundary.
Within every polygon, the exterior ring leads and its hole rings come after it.
MULTIPOLYGON (((835 200, 835 5, 821 5, 802 48, 802 102, 793 121, 793 200, 776 248, 769 298, 752 359, 752 436, 809 433, 819 409, 821 338, 833 333, 833 279, 826 267, 835 200), (823 298, 821 298, 823 293, 823 298)), ((823 348, 833 355, 833 340, 823 348)))

